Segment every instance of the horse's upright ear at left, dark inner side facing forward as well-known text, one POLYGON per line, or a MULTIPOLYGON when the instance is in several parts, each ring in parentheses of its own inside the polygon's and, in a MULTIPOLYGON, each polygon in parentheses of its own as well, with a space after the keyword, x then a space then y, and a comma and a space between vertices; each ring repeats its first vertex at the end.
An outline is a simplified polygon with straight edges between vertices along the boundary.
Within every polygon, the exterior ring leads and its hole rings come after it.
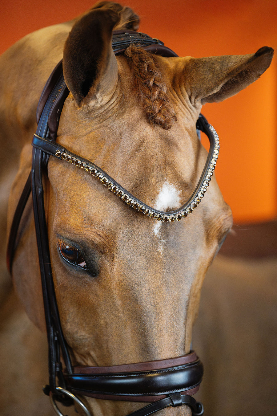
MULTIPOLYGON (((118 67, 111 46, 117 12, 95 9, 81 17, 65 42, 63 71, 66 85, 78 107, 110 97, 118 81, 118 67)), ((108 100, 108 98, 107 98, 108 100)))

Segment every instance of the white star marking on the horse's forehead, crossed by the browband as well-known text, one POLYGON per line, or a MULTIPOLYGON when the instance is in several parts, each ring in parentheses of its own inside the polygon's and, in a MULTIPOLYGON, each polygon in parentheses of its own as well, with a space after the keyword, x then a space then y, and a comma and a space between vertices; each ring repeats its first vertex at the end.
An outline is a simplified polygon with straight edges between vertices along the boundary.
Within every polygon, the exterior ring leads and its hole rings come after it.
MULTIPOLYGON (((154 208, 159 211, 166 211, 170 209, 173 211, 176 208, 179 208, 181 206, 180 202, 180 191, 178 191, 171 183, 168 181, 165 181, 162 189, 159 191, 159 195, 157 196, 157 199, 154 204, 154 208)), ((160 235, 160 229, 162 226, 162 221, 156 221, 154 227, 153 227, 153 233, 156 235, 156 237, 161 238, 160 235)), ((163 244, 164 240, 161 240, 160 244, 160 251, 163 252, 163 244)))

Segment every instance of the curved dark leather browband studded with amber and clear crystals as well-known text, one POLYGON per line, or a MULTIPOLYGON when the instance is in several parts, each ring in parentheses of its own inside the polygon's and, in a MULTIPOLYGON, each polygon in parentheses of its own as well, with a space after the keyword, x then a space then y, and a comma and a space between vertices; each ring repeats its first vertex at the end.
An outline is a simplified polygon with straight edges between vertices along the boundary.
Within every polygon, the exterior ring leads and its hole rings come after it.
POLYGON ((139 199, 135 198, 131 193, 126 191, 122 186, 120 186, 113 178, 111 178, 107 173, 105 173, 101 168, 98 168, 94 163, 77 156, 76 154, 71 153, 66 148, 60 146, 59 144, 50 142, 47 139, 34 134, 32 145, 37 149, 43 150, 51 156, 62 159, 66 162, 74 164, 77 168, 83 169, 84 171, 90 173, 98 181, 100 181, 106 188, 113 192, 116 196, 122 199, 127 205, 131 206, 135 210, 141 212, 147 217, 153 218, 158 221, 163 222, 174 222, 179 221, 182 218, 187 217, 193 210, 201 203, 201 200, 207 191, 211 177, 213 176, 213 171, 216 167, 216 161, 219 153, 219 139, 216 130, 208 124, 206 119, 201 115, 201 118, 198 120, 197 127, 204 131, 209 140, 210 140, 210 150, 208 158, 203 169, 201 178, 195 188, 195 191, 189 201, 183 205, 179 210, 164 212, 159 211, 150 206, 147 206, 139 199))

